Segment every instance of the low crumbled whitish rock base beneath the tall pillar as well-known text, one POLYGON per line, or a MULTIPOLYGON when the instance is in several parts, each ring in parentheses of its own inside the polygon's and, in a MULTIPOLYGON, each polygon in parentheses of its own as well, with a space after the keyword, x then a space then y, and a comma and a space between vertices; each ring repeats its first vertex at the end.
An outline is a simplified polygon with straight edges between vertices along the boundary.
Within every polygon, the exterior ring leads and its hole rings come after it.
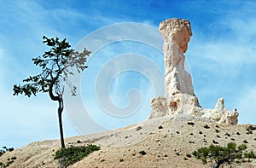
POLYGON ((238 115, 236 109, 229 111, 224 107, 224 99, 219 98, 214 109, 203 109, 198 103, 196 96, 177 94, 167 101, 165 97, 159 96, 151 99, 152 111, 148 119, 158 118, 166 115, 183 113, 186 116, 200 117, 202 121, 209 120, 217 123, 228 123, 236 125, 238 115))

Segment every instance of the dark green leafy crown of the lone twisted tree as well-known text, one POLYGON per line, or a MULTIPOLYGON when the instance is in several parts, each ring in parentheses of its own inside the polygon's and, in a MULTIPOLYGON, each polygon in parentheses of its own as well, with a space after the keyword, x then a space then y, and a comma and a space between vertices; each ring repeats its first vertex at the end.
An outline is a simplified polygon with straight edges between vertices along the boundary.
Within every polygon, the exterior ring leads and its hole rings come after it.
POLYGON ((62 95, 63 83, 65 82, 72 91, 72 95, 76 95, 76 87, 68 80, 69 75, 73 75, 71 67, 74 67, 78 72, 83 72, 87 66, 87 61, 90 51, 84 49, 79 53, 74 49, 70 49, 71 45, 66 41, 66 38, 43 37, 43 43, 49 46, 49 51, 45 51, 43 56, 33 58, 34 64, 42 69, 42 73, 29 76, 23 80, 26 84, 23 86, 14 85, 14 95, 24 94, 25 96, 36 96, 38 92, 54 91, 58 96, 62 95))

